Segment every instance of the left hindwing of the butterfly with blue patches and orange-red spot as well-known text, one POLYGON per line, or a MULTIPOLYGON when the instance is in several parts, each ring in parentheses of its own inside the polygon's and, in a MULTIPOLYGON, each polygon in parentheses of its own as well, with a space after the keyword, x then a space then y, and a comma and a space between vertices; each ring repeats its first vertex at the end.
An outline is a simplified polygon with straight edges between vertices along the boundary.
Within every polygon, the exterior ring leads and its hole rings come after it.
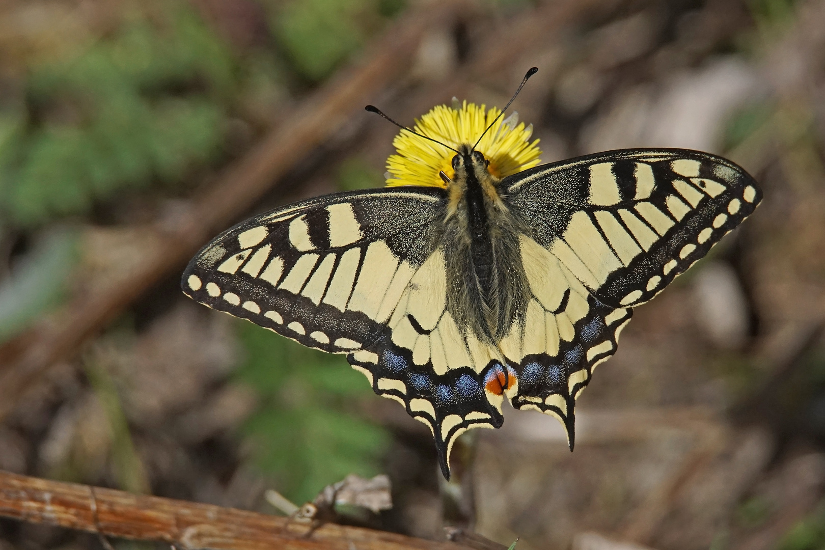
POLYGON ((445 251, 433 251, 410 279, 373 346, 347 359, 375 393, 401 402, 436 440, 449 477, 450 448, 465 430, 502 425, 501 404, 515 371, 460 327, 447 308, 445 251))

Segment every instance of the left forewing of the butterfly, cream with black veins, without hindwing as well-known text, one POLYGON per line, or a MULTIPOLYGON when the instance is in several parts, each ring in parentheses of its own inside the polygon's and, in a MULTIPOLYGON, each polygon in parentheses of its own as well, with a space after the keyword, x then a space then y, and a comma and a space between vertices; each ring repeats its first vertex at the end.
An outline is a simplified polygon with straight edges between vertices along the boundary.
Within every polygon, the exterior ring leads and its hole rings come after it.
POLYGON ((355 353, 374 343, 429 251, 444 191, 326 195, 239 223, 206 245, 184 293, 304 346, 355 353))

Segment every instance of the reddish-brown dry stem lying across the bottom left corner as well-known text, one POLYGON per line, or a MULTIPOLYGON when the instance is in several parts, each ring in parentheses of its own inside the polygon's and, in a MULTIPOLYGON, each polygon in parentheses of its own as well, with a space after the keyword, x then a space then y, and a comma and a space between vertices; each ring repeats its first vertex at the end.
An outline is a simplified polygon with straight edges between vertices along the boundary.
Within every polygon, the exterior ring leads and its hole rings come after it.
POLYGON ((235 508, 132 495, 0 471, 0 516, 109 537, 214 550, 471 550, 449 542, 325 524, 235 508))

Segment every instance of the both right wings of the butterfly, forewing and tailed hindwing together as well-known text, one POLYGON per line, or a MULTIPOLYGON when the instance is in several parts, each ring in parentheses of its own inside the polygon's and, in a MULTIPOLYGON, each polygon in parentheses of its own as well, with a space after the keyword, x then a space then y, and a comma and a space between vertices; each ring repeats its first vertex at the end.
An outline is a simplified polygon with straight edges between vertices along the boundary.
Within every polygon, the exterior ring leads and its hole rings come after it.
POLYGON ((761 191, 724 158, 631 149, 535 167, 502 181, 502 192, 532 230, 520 242, 532 298, 502 341, 518 375, 507 395, 557 416, 572 447, 575 400, 615 353, 631 308, 705 256, 761 191))

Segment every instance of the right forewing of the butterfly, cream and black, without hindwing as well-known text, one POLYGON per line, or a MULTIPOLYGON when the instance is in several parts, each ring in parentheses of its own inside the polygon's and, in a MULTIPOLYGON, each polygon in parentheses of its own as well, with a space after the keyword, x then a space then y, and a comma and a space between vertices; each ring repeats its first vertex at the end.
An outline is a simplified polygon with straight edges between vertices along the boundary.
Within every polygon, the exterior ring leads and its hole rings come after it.
POLYGON ((733 162, 684 149, 556 162, 510 176, 502 189, 535 240, 614 308, 653 298, 761 200, 733 162))

